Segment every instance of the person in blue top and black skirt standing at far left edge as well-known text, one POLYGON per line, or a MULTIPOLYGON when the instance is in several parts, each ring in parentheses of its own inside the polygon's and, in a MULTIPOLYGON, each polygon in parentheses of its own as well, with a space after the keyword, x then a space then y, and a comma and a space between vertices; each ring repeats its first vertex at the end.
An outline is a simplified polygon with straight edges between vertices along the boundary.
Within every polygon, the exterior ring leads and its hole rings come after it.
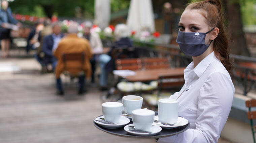
POLYGON ((1 2, 1 11, 0 11, 0 40, 1 40, 1 49, 2 57, 6 58, 8 56, 9 47, 10 47, 10 29, 8 24, 17 24, 21 26, 16 19, 12 17, 11 9, 8 7, 8 1, 4 0, 1 2))

